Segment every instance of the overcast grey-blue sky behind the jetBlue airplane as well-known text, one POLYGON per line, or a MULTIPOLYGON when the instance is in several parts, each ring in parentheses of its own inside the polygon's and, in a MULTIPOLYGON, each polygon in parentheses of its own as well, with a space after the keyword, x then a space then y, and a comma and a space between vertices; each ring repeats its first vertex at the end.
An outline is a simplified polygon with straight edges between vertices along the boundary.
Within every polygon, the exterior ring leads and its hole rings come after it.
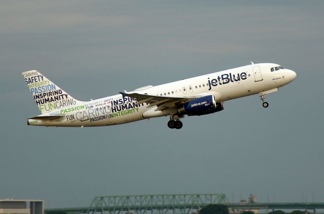
POLYGON ((94 196, 225 193, 324 201, 323 1, 1 1, 0 198, 46 208, 94 196), (21 72, 90 100, 254 63, 297 78, 225 110, 98 128, 26 125, 21 72))

